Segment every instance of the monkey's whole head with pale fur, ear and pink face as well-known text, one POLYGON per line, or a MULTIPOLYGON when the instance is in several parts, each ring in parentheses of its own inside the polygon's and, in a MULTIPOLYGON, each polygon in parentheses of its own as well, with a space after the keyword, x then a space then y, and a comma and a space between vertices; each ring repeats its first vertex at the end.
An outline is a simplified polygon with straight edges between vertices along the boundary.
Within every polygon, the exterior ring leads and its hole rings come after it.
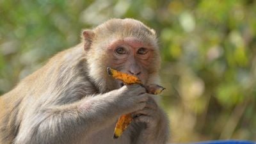
POLYGON ((92 31, 83 31, 89 76, 106 92, 122 83, 109 77, 106 68, 132 74, 143 84, 157 83, 160 67, 156 34, 134 19, 111 19, 92 31))

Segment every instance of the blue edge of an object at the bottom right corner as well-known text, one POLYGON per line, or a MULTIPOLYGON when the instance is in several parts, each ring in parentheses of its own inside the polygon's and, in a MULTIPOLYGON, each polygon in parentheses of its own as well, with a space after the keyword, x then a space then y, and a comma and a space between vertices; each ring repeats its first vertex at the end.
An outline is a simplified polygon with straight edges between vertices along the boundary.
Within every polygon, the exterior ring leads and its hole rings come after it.
POLYGON ((191 144, 256 144, 256 141, 246 140, 216 140, 216 141, 200 141, 191 144))

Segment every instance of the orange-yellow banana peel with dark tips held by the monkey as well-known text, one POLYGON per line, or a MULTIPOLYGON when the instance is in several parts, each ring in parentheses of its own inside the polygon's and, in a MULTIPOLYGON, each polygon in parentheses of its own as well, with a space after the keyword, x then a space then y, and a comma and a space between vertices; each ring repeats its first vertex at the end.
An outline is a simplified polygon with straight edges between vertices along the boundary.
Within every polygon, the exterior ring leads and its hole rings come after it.
MULTIPOLYGON (((122 81, 124 84, 141 84, 141 86, 143 86, 141 80, 136 76, 132 76, 131 74, 119 72, 118 70, 114 70, 113 68, 109 68, 109 67, 107 68, 107 72, 109 76, 112 76, 115 79, 122 81)), ((153 95, 160 94, 165 89, 163 88, 163 86, 159 86, 158 84, 149 84, 143 87, 145 87, 145 89, 147 90, 147 93, 150 93, 153 95)), ((132 122, 131 113, 120 116, 120 118, 118 118, 118 121, 116 122, 113 138, 115 139, 119 138, 119 136, 122 135, 125 129, 127 129, 127 126, 131 124, 131 122, 132 122)))

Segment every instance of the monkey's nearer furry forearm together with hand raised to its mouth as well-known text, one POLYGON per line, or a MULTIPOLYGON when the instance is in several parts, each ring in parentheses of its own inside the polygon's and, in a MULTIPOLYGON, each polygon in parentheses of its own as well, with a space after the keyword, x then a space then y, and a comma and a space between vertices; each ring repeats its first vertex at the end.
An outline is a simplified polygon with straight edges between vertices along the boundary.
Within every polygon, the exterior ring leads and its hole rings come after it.
POLYGON ((15 144, 79 143, 82 138, 90 138, 114 124, 118 116, 143 109, 148 96, 140 93, 145 93, 140 85, 123 86, 63 106, 35 104, 38 109, 26 106, 29 110, 24 111, 15 144))

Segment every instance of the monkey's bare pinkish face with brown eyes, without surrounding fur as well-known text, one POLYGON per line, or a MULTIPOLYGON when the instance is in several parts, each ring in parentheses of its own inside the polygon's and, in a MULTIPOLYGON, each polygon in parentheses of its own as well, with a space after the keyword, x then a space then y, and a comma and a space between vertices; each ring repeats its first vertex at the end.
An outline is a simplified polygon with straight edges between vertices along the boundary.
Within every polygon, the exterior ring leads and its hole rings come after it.
MULTIPOLYGON (((113 40, 107 47, 107 53, 109 67, 137 76, 144 84, 147 83, 154 60, 152 55, 156 54, 156 47, 138 38, 126 37, 113 40)), ((118 86, 123 86, 120 81, 116 83, 118 86)))

